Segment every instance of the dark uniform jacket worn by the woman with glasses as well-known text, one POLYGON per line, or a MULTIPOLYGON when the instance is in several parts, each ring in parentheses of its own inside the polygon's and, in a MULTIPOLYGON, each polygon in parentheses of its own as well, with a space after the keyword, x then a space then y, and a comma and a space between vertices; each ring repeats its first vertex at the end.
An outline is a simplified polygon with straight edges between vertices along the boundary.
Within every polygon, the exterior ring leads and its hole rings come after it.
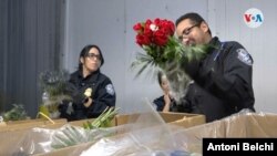
POLYGON ((83 77, 81 71, 71 74, 68 93, 73 98, 73 113, 68 117, 70 121, 95 118, 107 106, 115 106, 115 91, 112 81, 100 71, 83 77), (89 107, 84 106, 84 92, 86 89, 92 89, 92 104, 89 107))

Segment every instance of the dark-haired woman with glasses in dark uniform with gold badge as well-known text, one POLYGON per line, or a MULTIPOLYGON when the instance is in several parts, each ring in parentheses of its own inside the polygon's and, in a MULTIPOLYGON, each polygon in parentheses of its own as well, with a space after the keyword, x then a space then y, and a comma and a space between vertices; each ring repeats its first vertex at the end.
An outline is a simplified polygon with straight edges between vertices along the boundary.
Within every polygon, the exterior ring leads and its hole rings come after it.
POLYGON ((69 121, 95 118, 106 107, 115 106, 112 81, 100 72, 104 59, 96 45, 86 45, 80 53, 79 70, 71 74, 66 87, 72 103, 61 104, 61 117, 69 121), (71 108, 72 105, 72 108, 71 108))

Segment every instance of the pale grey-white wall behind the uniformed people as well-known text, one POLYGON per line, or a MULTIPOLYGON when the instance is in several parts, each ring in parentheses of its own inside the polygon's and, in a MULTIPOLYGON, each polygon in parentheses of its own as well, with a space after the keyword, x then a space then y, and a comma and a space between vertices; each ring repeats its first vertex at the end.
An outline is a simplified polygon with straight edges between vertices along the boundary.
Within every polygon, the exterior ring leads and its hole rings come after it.
POLYGON ((134 79, 135 71, 130 70, 135 53, 143 52, 135 44, 133 25, 154 18, 175 21, 183 13, 195 11, 207 20, 215 35, 223 41, 239 41, 253 54, 256 108, 277 113, 274 0, 68 0, 66 6, 64 66, 74 71, 81 49, 89 43, 100 45, 105 59, 102 72, 112 79, 116 105, 122 112, 137 111, 144 98, 152 101, 162 94, 155 80, 134 79), (258 29, 247 28, 243 21, 243 13, 253 7, 259 8, 265 17, 258 29))

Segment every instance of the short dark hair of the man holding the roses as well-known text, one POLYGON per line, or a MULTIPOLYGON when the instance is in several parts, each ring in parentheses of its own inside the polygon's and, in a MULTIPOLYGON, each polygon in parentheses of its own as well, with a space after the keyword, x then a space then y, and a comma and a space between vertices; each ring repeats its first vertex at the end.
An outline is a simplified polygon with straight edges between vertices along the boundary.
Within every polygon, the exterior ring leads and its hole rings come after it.
MULTIPOLYGON (((189 12, 186 14, 181 15, 176 21, 175 25, 177 27, 183 20, 189 19, 193 24, 199 24, 201 22, 207 23, 198 13, 189 12)), ((208 29, 208 33, 212 35, 211 30, 208 29)))

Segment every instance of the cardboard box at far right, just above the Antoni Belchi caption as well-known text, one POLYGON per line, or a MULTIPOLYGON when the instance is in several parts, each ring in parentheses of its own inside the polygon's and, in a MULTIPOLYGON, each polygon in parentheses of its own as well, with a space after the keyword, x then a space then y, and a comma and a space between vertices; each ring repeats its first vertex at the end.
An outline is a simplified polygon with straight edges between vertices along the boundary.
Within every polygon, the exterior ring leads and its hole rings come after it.
POLYGON ((277 114, 246 113, 186 129, 203 137, 277 137, 277 114))

